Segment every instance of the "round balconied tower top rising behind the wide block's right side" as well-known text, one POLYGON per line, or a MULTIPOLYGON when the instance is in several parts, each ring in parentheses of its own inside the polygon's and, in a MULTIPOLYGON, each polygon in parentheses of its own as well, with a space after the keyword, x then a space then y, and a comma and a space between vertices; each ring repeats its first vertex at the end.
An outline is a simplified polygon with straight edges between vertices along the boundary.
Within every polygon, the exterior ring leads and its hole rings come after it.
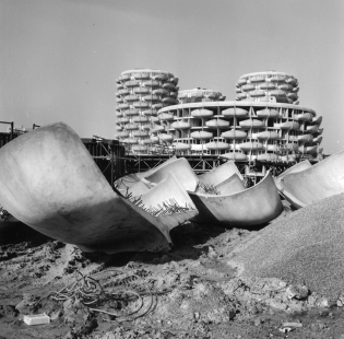
POLYGON ((275 71, 241 75, 236 83, 237 101, 298 104, 298 81, 290 74, 275 71))

